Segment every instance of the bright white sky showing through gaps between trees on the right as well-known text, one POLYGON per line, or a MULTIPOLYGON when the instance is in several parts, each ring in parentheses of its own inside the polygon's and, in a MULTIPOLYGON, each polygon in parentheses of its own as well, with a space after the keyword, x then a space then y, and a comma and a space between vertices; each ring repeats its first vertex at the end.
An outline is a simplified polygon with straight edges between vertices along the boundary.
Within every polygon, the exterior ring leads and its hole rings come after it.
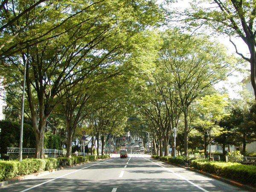
MULTIPOLYGON (((158 3, 163 2, 164 0, 159 0, 158 3)), ((186 8, 189 8, 189 2, 191 0, 178 0, 177 3, 172 3, 172 8, 177 8, 180 10, 184 10, 186 8)), ((212 40, 217 40, 220 41, 222 44, 224 44, 227 47, 227 51, 230 54, 234 54, 237 57, 240 57, 239 55, 236 54, 236 49, 233 46, 233 44, 231 44, 231 42, 229 41, 229 37, 227 35, 218 35, 218 36, 213 36, 212 40)), ((239 52, 241 52, 244 55, 248 55, 249 54, 249 49, 247 47, 247 45, 244 43, 243 40, 241 40, 241 38, 236 38, 233 37, 232 41, 236 44, 237 49, 239 52)), ((250 69, 250 64, 249 62, 247 62, 247 67, 246 69, 250 69)), ((227 81, 225 82, 220 82, 216 85, 216 88, 222 88, 225 87, 225 89, 227 89, 230 98, 239 98, 239 95, 236 93, 239 90, 242 90, 241 84, 239 84, 244 77, 247 76, 247 74, 241 74, 239 72, 234 72, 233 76, 229 76, 227 78, 227 81)))

